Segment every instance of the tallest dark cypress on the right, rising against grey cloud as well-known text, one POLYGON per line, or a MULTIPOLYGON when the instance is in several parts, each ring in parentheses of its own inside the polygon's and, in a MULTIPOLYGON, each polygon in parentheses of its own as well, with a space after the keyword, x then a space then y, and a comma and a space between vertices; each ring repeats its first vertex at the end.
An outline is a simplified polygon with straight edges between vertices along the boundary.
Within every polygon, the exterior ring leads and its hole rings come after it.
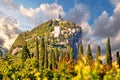
POLYGON ((107 39, 107 43, 106 43, 106 61, 107 64, 112 65, 110 38, 107 39))

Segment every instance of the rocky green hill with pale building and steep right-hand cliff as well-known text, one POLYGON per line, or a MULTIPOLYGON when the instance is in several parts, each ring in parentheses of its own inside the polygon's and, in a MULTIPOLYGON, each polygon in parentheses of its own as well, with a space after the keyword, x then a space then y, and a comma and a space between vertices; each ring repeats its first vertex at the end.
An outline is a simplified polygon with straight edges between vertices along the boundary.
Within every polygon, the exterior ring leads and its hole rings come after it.
POLYGON ((31 31, 19 34, 11 47, 11 53, 16 48, 21 48, 27 41, 31 53, 35 53, 35 38, 44 36, 53 45, 71 46, 77 53, 77 47, 81 43, 82 29, 71 21, 50 20, 31 31))

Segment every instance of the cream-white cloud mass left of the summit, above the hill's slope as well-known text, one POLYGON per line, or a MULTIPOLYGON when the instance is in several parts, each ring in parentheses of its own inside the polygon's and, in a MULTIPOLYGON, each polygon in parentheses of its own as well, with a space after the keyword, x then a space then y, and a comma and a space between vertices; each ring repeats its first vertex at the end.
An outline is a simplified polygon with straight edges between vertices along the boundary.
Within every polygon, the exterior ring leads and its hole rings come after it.
POLYGON ((31 30, 41 23, 65 15, 62 6, 41 4, 38 8, 26 8, 12 0, 0 0, 0 45, 11 47, 21 31, 31 30))

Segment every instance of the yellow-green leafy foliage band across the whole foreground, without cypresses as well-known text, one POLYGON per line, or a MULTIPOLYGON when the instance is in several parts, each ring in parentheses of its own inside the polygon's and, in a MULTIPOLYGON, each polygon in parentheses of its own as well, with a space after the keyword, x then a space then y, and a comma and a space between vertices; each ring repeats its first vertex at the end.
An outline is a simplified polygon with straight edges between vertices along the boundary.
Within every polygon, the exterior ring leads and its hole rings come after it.
MULTIPOLYGON (((86 63, 87 59, 82 56, 81 60, 72 61, 64 58, 58 62, 58 67, 49 69, 38 67, 36 58, 28 58, 25 62, 21 59, 12 60, 13 56, 0 59, 0 79, 3 80, 119 80, 120 68, 117 62, 112 66, 94 62, 86 63)), ((101 58, 101 57, 100 57, 101 58)), ((14 59, 16 57, 14 56, 14 59)))

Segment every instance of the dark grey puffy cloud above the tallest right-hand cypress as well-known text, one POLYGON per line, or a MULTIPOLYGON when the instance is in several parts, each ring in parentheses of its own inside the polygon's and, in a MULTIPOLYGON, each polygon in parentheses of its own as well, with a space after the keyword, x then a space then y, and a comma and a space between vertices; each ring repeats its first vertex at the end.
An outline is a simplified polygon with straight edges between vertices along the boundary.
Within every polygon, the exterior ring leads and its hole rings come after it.
MULTIPOLYGON (((116 10, 116 9, 115 9, 116 10)), ((120 30, 120 12, 115 11, 113 16, 108 16, 108 13, 104 11, 101 16, 95 21, 95 33, 94 35, 99 37, 114 37, 120 30)))

